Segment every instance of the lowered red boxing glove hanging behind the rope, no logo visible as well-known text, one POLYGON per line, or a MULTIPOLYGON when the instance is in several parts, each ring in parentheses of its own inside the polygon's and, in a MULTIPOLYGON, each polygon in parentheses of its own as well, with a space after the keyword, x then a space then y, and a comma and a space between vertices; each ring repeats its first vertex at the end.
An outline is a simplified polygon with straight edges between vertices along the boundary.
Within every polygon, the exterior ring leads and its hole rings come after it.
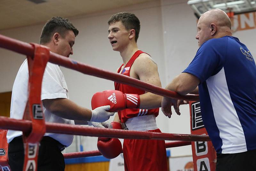
MULTIPOLYGON (((113 129, 122 129, 118 122, 111 122, 111 125, 113 129)), ((97 147, 100 153, 108 159, 114 159, 122 152, 122 144, 117 138, 99 137, 97 147)))

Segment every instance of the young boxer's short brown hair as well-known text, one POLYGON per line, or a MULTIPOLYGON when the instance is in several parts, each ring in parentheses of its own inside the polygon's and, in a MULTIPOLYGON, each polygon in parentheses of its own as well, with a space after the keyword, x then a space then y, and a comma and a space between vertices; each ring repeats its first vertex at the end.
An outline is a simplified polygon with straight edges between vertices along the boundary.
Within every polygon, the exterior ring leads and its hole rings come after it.
POLYGON ((110 17, 108 25, 117 21, 121 21, 126 30, 135 30, 135 42, 137 42, 140 33, 140 20, 130 12, 118 12, 110 17))

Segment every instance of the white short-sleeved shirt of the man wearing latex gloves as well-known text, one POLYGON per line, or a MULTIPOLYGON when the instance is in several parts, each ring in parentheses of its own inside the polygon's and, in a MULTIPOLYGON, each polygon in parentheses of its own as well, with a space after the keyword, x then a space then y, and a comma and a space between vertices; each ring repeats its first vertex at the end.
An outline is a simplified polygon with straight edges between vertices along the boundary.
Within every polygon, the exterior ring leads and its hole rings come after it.
MULTIPOLYGON (((41 100, 54 98, 68 98, 68 87, 60 67, 50 62, 47 63, 41 91, 41 100)), ((28 61, 22 63, 15 78, 12 88, 12 101, 10 118, 22 119, 28 100, 28 61)), ((74 120, 68 120, 54 115, 47 111, 43 106, 45 122, 75 124, 74 120)), ((22 131, 8 130, 7 142, 10 143, 13 138, 21 136, 22 131)), ((50 136, 65 146, 69 146, 74 136, 66 134, 45 133, 44 136, 50 136)))

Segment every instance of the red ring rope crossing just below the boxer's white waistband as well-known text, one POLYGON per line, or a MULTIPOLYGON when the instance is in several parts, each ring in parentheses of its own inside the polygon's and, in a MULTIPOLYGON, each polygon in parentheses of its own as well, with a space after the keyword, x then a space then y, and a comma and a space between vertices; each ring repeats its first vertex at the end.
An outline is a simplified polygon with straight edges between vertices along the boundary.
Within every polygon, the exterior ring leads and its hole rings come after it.
MULTIPOLYGON (((30 120, 18 120, 1 116, 0 123, 0 128, 2 129, 29 131, 31 129, 32 122, 30 120)), ((45 126, 46 132, 80 136, 102 136, 109 138, 156 139, 170 141, 210 141, 209 136, 206 135, 170 134, 147 131, 129 131, 121 129, 90 128, 79 125, 51 122, 46 122, 45 126)))

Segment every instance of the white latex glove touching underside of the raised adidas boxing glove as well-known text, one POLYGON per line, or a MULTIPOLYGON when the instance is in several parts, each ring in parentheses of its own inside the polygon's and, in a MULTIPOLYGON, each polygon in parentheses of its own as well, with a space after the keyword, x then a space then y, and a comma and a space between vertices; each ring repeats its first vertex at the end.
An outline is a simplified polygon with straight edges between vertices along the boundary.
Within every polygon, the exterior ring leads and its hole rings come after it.
POLYGON ((90 122, 104 122, 109 119, 110 116, 113 116, 115 112, 108 112, 110 105, 100 106, 92 110, 92 118, 90 122))

